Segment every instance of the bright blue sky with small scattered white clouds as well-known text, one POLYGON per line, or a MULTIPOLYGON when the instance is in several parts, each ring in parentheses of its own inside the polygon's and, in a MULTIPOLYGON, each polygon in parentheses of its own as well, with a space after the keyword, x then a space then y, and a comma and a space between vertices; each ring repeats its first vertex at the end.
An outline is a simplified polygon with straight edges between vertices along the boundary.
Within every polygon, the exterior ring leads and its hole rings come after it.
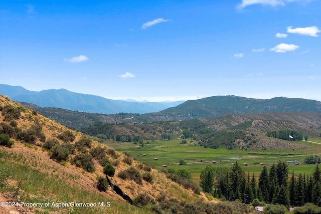
POLYGON ((0 83, 111 99, 321 101, 321 1, 6 1, 0 83))

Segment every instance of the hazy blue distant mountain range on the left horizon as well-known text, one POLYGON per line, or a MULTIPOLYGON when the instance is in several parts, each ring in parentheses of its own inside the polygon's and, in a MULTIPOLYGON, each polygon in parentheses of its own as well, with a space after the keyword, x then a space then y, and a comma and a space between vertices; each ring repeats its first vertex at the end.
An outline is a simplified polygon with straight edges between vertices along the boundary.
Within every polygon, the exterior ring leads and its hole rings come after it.
POLYGON ((0 94, 9 96, 14 101, 32 103, 40 107, 57 107, 72 111, 81 110, 101 114, 158 112, 184 102, 128 102, 74 93, 66 89, 49 89, 35 92, 28 91, 21 86, 4 84, 0 84, 0 94))

